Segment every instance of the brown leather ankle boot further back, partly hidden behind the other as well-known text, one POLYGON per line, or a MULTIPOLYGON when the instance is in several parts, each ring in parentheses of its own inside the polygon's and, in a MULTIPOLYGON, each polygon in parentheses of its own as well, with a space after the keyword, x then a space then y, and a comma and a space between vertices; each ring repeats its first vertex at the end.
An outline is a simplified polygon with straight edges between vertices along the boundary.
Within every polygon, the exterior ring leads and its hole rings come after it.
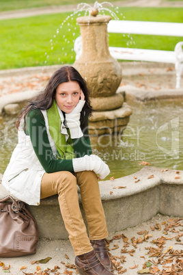
POLYGON ((114 270, 114 267, 109 257, 105 239, 98 239, 90 242, 102 265, 104 265, 104 267, 106 267, 107 270, 112 272, 114 270))

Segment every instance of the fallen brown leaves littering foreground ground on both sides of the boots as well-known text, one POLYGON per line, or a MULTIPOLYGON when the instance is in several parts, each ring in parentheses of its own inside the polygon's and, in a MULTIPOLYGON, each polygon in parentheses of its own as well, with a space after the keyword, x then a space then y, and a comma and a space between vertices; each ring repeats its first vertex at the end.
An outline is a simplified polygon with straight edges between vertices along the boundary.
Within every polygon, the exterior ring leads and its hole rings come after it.
MULTIPOLYGON (((161 224, 160 222, 154 222, 153 226, 149 226, 149 231, 145 228, 137 232, 134 230, 133 237, 129 237, 126 233, 125 235, 121 233, 113 235, 111 239, 107 239, 107 248, 115 268, 115 274, 128 275, 131 274, 130 270, 131 272, 132 270, 134 270, 133 272, 137 270, 137 274, 183 275, 183 250, 176 247, 176 245, 183 245, 182 220, 182 218, 167 218, 161 224), (156 237, 154 237, 155 233, 156 237), (158 237, 157 234, 159 234, 158 237), (119 242, 122 242, 123 248, 121 244, 119 246, 119 242), (143 255, 138 254, 138 248, 140 248, 141 244, 145 245, 143 255), (132 263, 130 259, 134 259, 135 255, 134 265, 129 264, 129 262, 132 263), (143 264, 141 265, 142 261, 143 264)), ((67 254, 65 254, 65 258, 69 259, 67 254)), ((58 265, 55 265, 53 269, 47 267, 46 270, 42 270, 38 263, 48 263, 50 259, 51 257, 47 257, 39 261, 31 261, 32 264, 37 264, 33 273, 24 272, 23 269, 26 268, 24 265, 19 270, 25 275, 77 274, 75 265, 64 261, 60 262, 64 265, 64 271, 63 267, 58 265)), ((1 270, 4 273, 10 273, 10 265, 6 267, 5 263, 0 261, 1 270)))

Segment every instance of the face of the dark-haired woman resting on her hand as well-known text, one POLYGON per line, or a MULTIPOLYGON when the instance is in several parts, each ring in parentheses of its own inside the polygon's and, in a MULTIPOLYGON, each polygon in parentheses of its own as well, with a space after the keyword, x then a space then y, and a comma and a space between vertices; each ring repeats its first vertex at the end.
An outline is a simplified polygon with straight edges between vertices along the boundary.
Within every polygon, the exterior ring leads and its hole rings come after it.
POLYGON ((55 100, 59 109, 70 114, 79 103, 81 88, 77 81, 68 81, 59 84, 56 89, 55 100))

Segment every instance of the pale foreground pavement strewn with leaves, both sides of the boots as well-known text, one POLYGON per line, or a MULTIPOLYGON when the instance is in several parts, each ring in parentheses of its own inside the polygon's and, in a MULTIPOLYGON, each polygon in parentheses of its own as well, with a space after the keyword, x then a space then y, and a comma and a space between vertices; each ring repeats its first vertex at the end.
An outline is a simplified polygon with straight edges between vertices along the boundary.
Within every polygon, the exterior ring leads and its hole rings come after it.
MULTIPOLYGON (((48 221, 46 223, 48 224, 48 221)), ((157 214, 152 220, 143 224, 109 235, 107 239, 115 266, 114 274, 135 275, 145 267, 147 268, 145 273, 149 274, 181 275, 182 231, 182 219, 157 214)), ((74 263, 74 252, 69 240, 41 239, 36 254, 10 259, 1 258, 0 262, 3 262, 5 267, 10 265, 9 270, 12 275, 77 274, 76 270, 69 268, 74 263), (52 258, 48 263, 31 263, 47 257, 52 258), (21 267, 25 268, 20 270, 21 267)), ((0 274, 4 274, 1 265, 0 274)))

